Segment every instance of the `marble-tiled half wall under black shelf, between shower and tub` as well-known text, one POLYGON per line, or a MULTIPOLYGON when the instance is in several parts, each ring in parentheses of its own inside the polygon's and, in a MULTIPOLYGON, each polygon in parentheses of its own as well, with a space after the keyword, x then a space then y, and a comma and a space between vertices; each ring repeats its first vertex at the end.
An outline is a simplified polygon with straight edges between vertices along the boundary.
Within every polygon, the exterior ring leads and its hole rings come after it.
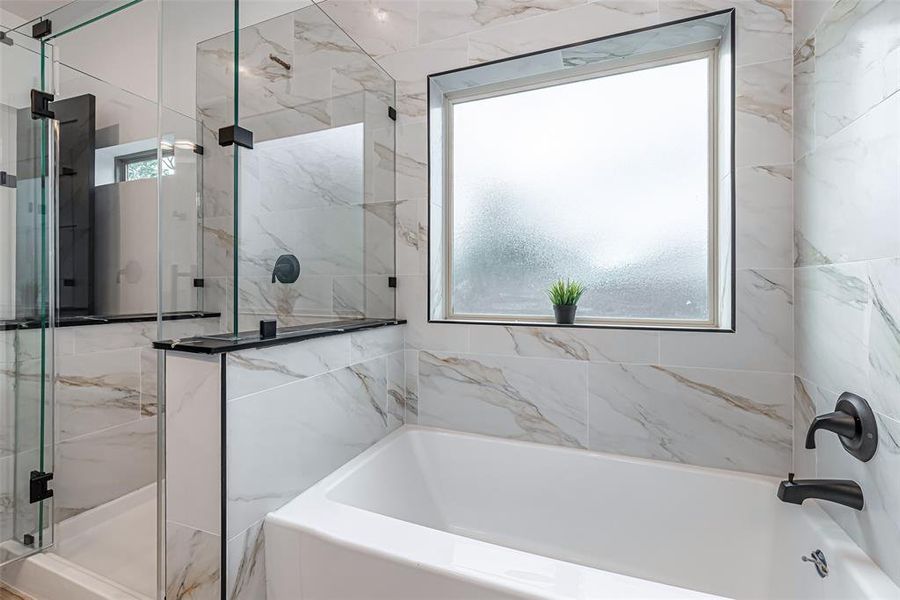
POLYGON ((226 597, 263 600, 265 515, 402 424, 403 343, 391 326, 214 359, 167 355, 169 598, 219 597, 220 406, 226 597))

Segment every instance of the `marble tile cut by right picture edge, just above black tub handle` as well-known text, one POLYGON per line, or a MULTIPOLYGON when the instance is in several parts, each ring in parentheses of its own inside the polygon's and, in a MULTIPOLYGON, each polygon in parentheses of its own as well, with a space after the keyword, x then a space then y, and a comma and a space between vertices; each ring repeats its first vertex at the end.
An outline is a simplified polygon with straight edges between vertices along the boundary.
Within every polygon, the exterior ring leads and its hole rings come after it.
POLYGON ((900 259, 873 260, 866 268, 871 385, 867 400, 876 411, 900 419, 900 259))

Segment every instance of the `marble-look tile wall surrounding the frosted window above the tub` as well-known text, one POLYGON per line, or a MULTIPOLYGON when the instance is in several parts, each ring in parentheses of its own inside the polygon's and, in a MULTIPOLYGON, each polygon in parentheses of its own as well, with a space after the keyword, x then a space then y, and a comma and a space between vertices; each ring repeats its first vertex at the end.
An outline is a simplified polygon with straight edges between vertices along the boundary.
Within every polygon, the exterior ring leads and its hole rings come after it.
POLYGON ((397 80, 397 314, 406 417, 515 439, 784 475, 792 463, 789 0, 325 0, 397 80), (737 332, 428 323, 426 76, 737 9, 737 332))

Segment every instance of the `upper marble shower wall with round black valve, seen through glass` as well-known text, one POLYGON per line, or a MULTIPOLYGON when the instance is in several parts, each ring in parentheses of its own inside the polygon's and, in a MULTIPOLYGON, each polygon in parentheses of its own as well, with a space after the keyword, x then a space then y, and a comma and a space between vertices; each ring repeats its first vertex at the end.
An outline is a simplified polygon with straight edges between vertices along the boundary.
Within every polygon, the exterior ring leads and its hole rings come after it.
MULTIPOLYGON (((245 27, 240 39, 240 124, 255 148, 240 151, 237 190, 232 150, 204 156, 207 306, 231 301, 237 193, 241 329, 262 318, 393 318, 393 80, 316 6, 245 27), (281 254, 300 260, 293 284, 272 281, 281 254)), ((232 40, 197 46, 208 132, 234 120, 232 40)))

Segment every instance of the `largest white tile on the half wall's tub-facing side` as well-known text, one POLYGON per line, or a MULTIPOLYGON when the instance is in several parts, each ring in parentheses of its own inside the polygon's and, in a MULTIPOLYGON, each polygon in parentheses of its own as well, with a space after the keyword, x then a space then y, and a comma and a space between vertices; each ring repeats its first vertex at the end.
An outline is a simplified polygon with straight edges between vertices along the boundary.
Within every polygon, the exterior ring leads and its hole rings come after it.
POLYGON ((229 537, 388 432, 386 374, 377 358, 228 404, 229 537))

